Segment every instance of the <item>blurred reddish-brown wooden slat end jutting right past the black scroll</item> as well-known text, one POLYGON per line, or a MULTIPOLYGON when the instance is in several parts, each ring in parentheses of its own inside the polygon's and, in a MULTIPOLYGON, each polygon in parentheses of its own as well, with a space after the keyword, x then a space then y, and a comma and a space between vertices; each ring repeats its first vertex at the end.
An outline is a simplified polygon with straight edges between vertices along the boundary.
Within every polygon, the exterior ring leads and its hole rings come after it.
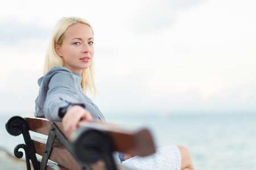
MULTIPOLYGON (((62 123, 55 122, 54 124, 63 133, 62 123)), ((147 129, 127 129, 127 127, 96 121, 81 122, 79 125, 81 128, 95 128, 108 132, 113 140, 115 149, 119 152, 139 156, 146 156, 155 152, 151 133, 147 129)))

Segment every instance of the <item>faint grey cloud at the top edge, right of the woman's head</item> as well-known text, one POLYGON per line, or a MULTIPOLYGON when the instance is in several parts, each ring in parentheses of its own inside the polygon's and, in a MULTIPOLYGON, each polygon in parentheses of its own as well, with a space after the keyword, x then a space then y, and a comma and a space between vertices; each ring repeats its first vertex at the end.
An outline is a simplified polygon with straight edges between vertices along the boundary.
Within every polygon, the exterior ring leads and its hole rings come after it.
POLYGON ((133 11, 131 11, 132 20, 128 20, 123 25, 138 34, 162 31, 174 24, 177 11, 193 7, 202 2, 204 0, 137 1, 133 11))

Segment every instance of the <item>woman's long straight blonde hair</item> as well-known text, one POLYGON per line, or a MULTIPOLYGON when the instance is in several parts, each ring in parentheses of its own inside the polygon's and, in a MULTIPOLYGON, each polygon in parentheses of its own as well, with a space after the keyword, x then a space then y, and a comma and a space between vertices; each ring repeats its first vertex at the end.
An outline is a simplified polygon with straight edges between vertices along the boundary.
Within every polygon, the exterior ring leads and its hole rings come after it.
MULTIPOLYGON (((54 66, 63 66, 63 58, 59 57, 55 51, 55 44, 61 45, 64 39, 65 31, 75 25, 77 23, 82 23, 89 25, 90 29, 92 29, 92 25, 82 18, 77 17, 64 17, 57 22, 55 28, 53 29, 48 50, 46 52, 46 57, 44 60, 44 75, 54 66)), ((93 29, 92 29, 93 33, 93 29)), ((94 33, 93 33, 94 35, 94 33)), ((93 62, 90 63, 88 69, 82 70, 82 82, 81 86, 84 89, 84 93, 89 92, 89 94, 96 94, 96 86, 93 79, 93 62), (94 93, 93 93, 94 92, 94 93)))

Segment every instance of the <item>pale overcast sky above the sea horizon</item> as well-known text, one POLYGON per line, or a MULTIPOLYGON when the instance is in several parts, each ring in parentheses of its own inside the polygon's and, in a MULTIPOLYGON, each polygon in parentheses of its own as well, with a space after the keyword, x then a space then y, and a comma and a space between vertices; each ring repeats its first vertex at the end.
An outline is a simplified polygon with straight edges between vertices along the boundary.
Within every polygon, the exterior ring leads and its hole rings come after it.
POLYGON ((256 114, 256 1, 1 1, 0 114, 34 113, 63 16, 94 29, 105 115, 256 114))

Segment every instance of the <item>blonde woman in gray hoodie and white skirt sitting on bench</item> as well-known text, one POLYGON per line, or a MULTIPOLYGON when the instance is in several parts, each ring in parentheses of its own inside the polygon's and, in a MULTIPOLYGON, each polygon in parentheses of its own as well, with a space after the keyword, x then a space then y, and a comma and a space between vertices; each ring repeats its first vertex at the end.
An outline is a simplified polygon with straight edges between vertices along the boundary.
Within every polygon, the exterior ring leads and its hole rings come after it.
MULTIPOLYGON (((62 121, 70 136, 80 121, 101 120, 104 116, 85 95, 95 92, 93 80, 93 29, 81 18, 62 18, 53 30, 44 62, 44 76, 38 80, 39 95, 35 116, 62 121)), ((135 169, 193 169, 189 152, 182 146, 160 148, 140 158, 125 155, 123 164, 135 169)))

